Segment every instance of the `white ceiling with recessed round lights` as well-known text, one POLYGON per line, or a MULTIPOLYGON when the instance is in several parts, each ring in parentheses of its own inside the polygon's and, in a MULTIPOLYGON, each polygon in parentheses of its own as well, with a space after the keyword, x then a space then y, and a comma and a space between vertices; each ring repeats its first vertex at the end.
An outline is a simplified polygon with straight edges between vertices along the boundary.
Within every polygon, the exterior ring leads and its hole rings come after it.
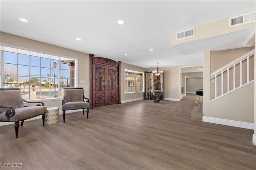
POLYGON ((157 63, 159 68, 200 65, 204 50, 242 45, 255 32, 247 29, 174 46, 170 37, 178 31, 254 11, 255 0, 0 3, 2 32, 143 68, 154 69, 157 63), (119 25, 118 20, 126 23, 119 25), (151 48, 154 51, 149 51, 151 48))

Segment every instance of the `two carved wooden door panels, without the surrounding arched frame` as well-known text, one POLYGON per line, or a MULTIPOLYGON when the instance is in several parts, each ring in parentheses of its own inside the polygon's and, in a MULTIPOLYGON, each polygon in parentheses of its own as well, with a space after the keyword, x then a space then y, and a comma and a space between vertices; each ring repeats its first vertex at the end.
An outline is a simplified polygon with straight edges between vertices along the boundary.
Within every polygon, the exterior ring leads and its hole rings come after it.
POLYGON ((117 68, 94 64, 94 107, 117 103, 117 68))

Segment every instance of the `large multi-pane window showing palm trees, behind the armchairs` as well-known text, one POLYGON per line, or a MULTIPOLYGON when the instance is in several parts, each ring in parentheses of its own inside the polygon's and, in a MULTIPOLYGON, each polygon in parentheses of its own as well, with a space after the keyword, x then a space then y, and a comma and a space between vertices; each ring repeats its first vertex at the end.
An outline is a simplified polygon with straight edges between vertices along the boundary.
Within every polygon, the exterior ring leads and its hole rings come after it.
POLYGON ((74 87, 77 59, 1 46, 1 88, 19 88, 24 99, 58 98, 74 87))

